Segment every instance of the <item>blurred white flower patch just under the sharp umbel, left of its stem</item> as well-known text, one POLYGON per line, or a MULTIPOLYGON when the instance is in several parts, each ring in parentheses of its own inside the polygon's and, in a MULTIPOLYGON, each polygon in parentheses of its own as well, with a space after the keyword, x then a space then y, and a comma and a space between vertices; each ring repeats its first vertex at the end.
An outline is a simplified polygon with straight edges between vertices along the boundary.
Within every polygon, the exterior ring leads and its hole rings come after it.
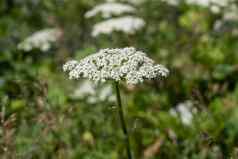
POLYGON ((85 100, 87 103, 95 104, 99 102, 115 102, 116 97, 113 94, 111 85, 96 85, 94 82, 84 80, 76 87, 71 96, 73 99, 85 100))

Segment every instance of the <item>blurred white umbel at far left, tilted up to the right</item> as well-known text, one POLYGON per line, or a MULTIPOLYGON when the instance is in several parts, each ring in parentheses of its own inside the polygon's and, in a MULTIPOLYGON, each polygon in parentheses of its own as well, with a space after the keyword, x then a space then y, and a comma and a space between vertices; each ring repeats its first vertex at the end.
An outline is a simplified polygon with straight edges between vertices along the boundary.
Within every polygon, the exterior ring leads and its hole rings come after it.
POLYGON ((56 28, 40 30, 19 43, 17 47, 19 50, 23 51, 39 49, 42 52, 45 52, 51 48, 52 43, 56 42, 60 35, 61 31, 56 28))

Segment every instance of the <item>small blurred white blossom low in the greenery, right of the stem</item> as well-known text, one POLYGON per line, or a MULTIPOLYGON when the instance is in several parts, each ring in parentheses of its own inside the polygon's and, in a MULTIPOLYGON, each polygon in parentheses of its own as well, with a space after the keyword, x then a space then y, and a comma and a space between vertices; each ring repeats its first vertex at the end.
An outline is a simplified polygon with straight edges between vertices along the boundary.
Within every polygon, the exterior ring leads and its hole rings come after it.
POLYGON ((197 113, 192 101, 179 103, 175 108, 170 109, 170 114, 174 117, 179 117, 184 125, 190 125, 193 120, 193 115, 197 113))

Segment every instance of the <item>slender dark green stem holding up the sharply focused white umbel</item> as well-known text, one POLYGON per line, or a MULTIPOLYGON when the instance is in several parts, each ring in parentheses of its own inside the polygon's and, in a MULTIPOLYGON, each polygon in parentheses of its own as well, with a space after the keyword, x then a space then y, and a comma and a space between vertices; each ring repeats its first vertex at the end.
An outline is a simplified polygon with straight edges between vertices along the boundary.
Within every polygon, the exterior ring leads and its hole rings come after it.
POLYGON ((128 157, 128 159, 132 159, 129 134, 128 134, 128 131, 127 131, 125 117, 124 117, 124 114, 123 114, 123 109, 122 109, 122 104, 121 104, 121 95, 120 95, 119 83, 118 82, 115 82, 115 87, 116 87, 117 102, 118 102, 118 113, 119 113, 119 118, 120 118, 120 122, 121 122, 122 131, 123 131, 123 134, 124 134, 126 150, 127 150, 127 157, 128 157))

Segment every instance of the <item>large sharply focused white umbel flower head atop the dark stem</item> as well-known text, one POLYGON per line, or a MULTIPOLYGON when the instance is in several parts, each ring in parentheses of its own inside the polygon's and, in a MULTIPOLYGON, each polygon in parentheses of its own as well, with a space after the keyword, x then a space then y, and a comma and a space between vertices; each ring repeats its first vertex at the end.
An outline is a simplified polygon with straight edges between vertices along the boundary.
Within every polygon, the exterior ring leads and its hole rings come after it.
POLYGON ((69 61, 63 66, 70 79, 88 78, 96 82, 106 80, 138 84, 145 79, 166 77, 168 69, 155 64, 145 53, 133 47, 102 49, 81 61, 69 61))

